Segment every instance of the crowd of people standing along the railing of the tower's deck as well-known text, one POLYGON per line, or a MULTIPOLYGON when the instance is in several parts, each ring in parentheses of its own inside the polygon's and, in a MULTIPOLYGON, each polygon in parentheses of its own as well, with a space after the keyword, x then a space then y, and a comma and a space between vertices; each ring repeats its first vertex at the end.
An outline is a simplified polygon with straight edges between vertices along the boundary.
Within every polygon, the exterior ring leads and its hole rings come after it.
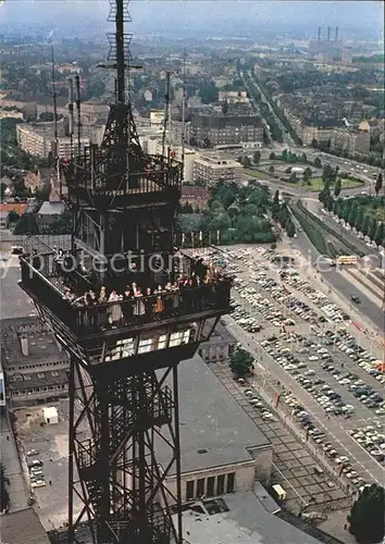
POLYGON ((84 312, 88 324, 117 327, 125 322, 160 320, 165 316, 208 309, 218 304, 224 285, 220 268, 204 263, 201 258, 194 259, 188 276, 181 273, 176 280, 170 276, 169 280, 163 285, 149 285, 150 282, 139 285, 134 281, 123 289, 101 285, 83 294, 67 286, 64 299, 76 308, 88 310, 84 312))

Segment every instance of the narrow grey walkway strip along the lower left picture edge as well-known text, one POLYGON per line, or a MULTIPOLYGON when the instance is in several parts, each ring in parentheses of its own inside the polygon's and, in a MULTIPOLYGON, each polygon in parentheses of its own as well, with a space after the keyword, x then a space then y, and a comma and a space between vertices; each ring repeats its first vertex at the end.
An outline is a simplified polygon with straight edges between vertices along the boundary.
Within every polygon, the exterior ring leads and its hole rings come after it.
POLYGON ((5 477, 10 480, 8 492, 11 499, 10 511, 27 508, 28 490, 24 480, 23 469, 18 459, 16 443, 10 429, 5 412, 1 413, 0 419, 0 452, 1 462, 4 466, 5 477), (9 437, 9 440, 7 440, 9 437))

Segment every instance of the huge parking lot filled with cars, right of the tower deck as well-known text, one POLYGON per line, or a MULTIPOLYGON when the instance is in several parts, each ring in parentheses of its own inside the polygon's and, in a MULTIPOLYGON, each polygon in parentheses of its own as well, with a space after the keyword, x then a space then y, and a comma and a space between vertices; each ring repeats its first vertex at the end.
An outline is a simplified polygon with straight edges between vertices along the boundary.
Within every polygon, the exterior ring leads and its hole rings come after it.
POLYGON ((284 384, 282 401, 298 406, 285 405, 294 423, 352 490, 382 483, 384 375, 352 334, 350 316, 301 279, 290 258, 253 248, 222 251, 220 259, 237 275, 226 322, 284 384))

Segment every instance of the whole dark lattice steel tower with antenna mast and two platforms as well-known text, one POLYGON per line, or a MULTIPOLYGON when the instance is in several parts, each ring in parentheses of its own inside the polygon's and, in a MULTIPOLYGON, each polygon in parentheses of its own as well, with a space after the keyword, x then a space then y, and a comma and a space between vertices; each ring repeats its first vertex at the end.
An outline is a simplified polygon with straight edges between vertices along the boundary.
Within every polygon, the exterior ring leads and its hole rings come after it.
POLYGON ((78 146, 62 164, 72 247, 64 256, 25 252, 21 286, 71 354, 67 542, 79 542, 86 520, 94 544, 182 544, 177 366, 227 313, 232 282, 216 271, 194 284, 187 256, 172 259, 183 165, 139 144, 125 89, 127 3, 111 0, 116 87, 103 140, 78 146), (140 286, 156 293, 144 296, 140 286), (165 465, 157 460, 161 442, 165 465))

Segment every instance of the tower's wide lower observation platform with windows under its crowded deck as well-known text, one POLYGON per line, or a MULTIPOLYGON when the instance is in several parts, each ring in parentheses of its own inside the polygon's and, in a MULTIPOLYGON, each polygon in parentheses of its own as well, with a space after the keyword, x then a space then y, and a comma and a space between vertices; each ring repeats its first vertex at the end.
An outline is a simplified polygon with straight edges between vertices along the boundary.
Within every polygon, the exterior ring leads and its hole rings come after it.
MULTIPOLYGON (((232 277, 224 275, 199 286, 174 286, 102 304, 96 299, 89 305, 84 295, 67 298, 69 276, 58 272, 52 254, 24 255, 20 260, 21 287, 60 342, 87 367, 111 366, 139 355, 144 369, 170 366, 174 358, 175 363, 188 359, 209 338, 219 318, 231 310, 232 277)), ((91 289, 89 277, 77 269, 69 274, 83 293, 91 289)))

